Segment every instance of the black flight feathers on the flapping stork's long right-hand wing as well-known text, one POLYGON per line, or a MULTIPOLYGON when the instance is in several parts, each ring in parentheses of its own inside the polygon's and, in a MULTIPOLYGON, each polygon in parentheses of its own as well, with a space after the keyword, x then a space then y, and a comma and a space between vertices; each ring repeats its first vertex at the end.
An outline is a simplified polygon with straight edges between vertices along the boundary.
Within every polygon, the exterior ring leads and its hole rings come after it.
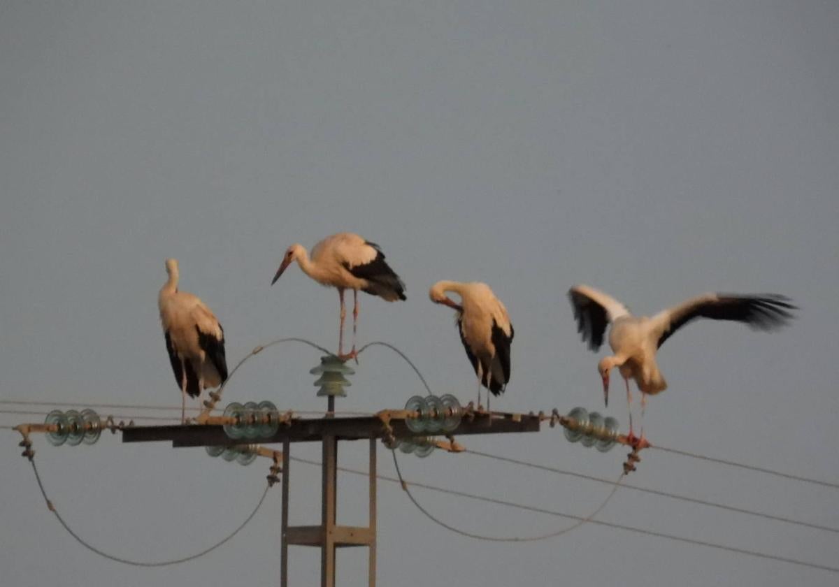
POLYGON ((774 330, 793 318, 790 310, 798 309, 791 300, 778 294, 737 295, 717 294, 716 300, 697 304, 688 312, 670 320, 670 326, 659 337, 659 347, 676 330, 696 318, 743 322, 755 330, 774 330))

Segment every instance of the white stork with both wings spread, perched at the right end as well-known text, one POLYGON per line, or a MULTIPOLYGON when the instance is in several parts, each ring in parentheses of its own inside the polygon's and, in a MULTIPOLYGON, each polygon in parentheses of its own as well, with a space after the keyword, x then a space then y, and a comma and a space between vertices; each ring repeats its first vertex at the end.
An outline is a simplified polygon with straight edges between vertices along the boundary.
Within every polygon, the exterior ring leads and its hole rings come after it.
MULTIPOLYGON (((789 310, 797 309, 789 303, 789 298, 777 294, 704 294, 652 317, 636 318, 618 300, 586 285, 574 286, 568 290, 568 297, 574 308, 577 331, 592 351, 597 351, 603 344, 606 325, 612 324, 609 345, 614 355, 603 357, 597 363, 597 371, 603 380, 603 399, 607 405, 609 371, 618 367, 621 372, 627 387, 630 439, 634 436, 629 378, 635 380, 641 391, 643 410, 648 393, 654 395, 667 388, 655 362, 655 353, 676 330, 696 318, 732 320, 748 324, 755 330, 774 330, 793 317, 789 310)), ((643 427, 641 438, 644 438, 643 427)))

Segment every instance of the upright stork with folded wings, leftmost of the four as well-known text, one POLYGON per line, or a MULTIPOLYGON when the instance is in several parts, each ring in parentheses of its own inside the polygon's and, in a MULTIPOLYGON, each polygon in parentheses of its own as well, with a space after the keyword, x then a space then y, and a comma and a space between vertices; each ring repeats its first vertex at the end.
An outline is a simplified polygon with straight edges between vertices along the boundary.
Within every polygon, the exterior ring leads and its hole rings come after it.
POLYGON ((227 380, 224 330, 216 316, 197 296, 178 290, 178 262, 166 259, 169 280, 160 288, 158 308, 166 337, 166 351, 181 392, 181 422, 185 422, 186 396, 199 397, 207 387, 227 380))

